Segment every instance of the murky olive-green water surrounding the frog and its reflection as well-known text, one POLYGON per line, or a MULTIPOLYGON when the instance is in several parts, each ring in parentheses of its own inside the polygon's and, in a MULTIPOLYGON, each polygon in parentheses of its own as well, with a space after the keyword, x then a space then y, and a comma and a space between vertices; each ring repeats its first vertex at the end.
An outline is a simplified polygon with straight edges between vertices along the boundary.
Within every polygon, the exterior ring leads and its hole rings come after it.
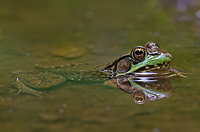
MULTIPOLYGON (((198 21, 177 22, 175 7, 161 5, 154 0, 1 0, 0 131, 200 131, 198 21), (117 87, 67 81, 43 91, 41 99, 18 94, 11 84, 13 72, 34 72, 35 64, 107 64, 151 40, 173 55, 172 66, 188 73, 170 80, 169 98, 138 105, 117 87), (70 46, 81 54, 54 54, 70 46)), ((192 16, 198 7, 186 14, 192 16)))

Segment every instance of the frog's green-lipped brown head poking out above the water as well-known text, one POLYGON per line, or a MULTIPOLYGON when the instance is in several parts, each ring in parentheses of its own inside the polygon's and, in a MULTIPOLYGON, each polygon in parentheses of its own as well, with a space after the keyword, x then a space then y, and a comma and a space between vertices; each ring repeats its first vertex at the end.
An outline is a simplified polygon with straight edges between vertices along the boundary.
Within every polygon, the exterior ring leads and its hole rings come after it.
POLYGON ((170 53, 150 41, 145 46, 134 47, 130 53, 120 56, 101 71, 115 76, 156 73, 169 70, 172 60, 173 57, 170 53))

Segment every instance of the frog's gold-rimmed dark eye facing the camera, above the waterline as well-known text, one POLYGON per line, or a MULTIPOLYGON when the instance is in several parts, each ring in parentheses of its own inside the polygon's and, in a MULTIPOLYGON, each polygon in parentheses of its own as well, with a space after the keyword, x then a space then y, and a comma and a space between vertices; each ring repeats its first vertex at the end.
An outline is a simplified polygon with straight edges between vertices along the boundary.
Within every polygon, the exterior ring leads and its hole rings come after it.
POLYGON ((147 55, 146 49, 142 46, 137 46, 131 51, 131 56, 136 60, 143 60, 147 55))

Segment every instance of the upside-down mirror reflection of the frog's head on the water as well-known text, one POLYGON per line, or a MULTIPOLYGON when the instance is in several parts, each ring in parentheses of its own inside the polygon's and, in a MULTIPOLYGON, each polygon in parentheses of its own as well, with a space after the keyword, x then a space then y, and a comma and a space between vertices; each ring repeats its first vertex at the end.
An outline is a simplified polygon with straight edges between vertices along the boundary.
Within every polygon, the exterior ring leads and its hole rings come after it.
POLYGON ((167 98, 172 94, 169 79, 164 77, 115 76, 110 80, 123 92, 130 94, 134 103, 167 98))

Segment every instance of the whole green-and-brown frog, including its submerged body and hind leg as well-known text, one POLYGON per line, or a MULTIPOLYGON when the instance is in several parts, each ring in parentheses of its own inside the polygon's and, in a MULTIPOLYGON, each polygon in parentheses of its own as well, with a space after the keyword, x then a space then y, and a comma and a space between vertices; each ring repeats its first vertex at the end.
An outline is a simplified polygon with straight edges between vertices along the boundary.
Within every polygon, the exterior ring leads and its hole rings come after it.
POLYGON ((147 42, 145 47, 136 46, 128 54, 122 55, 107 66, 93 68, 88 64, 37 66, 38 74, 18 74, 13 85, 18 93, 41 96, 41 90, 54 88, 66 80, 102 81, 117 76, 183 76, 178 70, 170 68, 172 55, 159 48, 155 42, 147 42))

